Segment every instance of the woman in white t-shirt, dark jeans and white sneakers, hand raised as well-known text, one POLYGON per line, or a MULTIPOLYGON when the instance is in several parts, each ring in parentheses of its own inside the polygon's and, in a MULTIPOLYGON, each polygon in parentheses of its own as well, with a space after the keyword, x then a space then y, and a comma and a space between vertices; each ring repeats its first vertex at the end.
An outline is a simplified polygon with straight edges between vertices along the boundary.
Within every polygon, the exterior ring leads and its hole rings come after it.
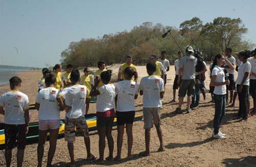
POLYGON ((229 85, 229 80, 225 81, 224 68, 221 66, 224 63, 229 65, 230 69, 234 69, 233 65, 226 59, 225 54, 218 54, 212 63, 210 86, 215 86, 214 100, 215 100, 215 116, 214 116, 214 132, 212 136, 218 139, 225 139, 226 135, 219 131, 221 121, 225 115, 226 110, 226 85, 229 85))

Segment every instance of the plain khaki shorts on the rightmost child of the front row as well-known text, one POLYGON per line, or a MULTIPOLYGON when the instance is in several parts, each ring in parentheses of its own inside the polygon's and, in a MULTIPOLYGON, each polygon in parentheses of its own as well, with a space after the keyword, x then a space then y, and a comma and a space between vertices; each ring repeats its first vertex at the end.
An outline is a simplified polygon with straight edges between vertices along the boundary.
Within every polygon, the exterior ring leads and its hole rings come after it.
POLYGON ((143 108, 144 129, 160 124, 160 107, 143 108))

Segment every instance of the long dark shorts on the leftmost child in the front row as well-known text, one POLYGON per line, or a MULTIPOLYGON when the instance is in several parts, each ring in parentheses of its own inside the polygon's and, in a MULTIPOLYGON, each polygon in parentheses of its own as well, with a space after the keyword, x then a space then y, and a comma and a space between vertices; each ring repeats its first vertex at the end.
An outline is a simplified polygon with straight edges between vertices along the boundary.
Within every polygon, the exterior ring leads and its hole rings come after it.
POLYGON ((5 124, 5 149, 11 150, 15 147, 24 150, 26 147, 26 125, 5 124))

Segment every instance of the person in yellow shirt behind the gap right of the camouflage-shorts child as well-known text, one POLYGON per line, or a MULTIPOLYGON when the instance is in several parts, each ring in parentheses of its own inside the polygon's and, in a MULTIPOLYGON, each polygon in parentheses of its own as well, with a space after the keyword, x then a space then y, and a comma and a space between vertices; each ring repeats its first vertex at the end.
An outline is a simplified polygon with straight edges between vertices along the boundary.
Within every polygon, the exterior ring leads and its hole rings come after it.
POLYGON ((89 107, 90 107, 90 91, 94 85, 94 78, 90 75, 90 69, 84 68, 83 70, 84 75, 80 77, 80 84, 85 85, 87 88, 87 96, 86 96, 86 114, 88 114, 89 107))

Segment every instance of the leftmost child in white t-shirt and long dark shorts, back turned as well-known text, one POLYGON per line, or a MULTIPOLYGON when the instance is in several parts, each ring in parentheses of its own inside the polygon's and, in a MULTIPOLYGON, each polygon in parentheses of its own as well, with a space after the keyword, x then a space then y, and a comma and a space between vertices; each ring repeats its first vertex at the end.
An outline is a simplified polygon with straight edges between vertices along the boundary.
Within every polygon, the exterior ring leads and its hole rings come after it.
POLYGON ((19 91, 22 83, 19 77, 12 77, 9 81, 11 91, 2 94, 0 99, 0 114, 5 115, 6 166, 11 165, 12 149, 16 146, 17 166, 22 166, 29 130, 29 98, 19 91))

